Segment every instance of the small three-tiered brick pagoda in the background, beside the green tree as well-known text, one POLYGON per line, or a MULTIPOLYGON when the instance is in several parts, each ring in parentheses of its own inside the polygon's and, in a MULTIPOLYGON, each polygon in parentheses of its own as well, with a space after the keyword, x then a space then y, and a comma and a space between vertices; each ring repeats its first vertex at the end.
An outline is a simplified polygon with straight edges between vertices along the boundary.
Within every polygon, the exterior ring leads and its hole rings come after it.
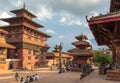
POLYGON ((81 71, 83 64, 89 64, 89 59, 93 56, 91 49, 92 46, 87 41, 88 38, 81 34, 75 37, 78 41, 73 42, 72 44, 76 47, 69 50, 69 54, 73 56, 73 71, 81 71))

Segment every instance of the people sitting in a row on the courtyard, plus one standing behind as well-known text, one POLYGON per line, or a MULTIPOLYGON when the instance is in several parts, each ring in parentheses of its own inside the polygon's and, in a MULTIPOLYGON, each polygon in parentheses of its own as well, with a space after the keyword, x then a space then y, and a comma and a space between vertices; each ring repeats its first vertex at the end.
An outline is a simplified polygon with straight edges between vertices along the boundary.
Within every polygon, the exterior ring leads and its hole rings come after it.
MULTIPOLYGON (((16 81, 19 80, 19 74, 16 73, 15 74, 15 78, 16 78, 16 81)), ((39 75, 38 74, 35 74, 35 75, 32 75, 32 76, 27 76, 26 79, 24 79, 23 77, 20 78, 20 83, 30 83, 30 82, 33 82, 33 81, 36 81, 39 79, 39 75)))

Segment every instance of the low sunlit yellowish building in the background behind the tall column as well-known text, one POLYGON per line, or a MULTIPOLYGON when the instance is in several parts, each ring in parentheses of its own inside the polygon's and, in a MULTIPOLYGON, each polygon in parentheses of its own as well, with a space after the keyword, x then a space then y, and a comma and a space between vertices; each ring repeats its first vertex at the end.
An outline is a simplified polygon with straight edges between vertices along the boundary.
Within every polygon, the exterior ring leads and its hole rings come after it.
MULTIPOLYGON (((47 52, 44 54, 46 56, 46 62, 48 66, 56 66, 59 67, 60 61, 60 54, 57 51, 56 47, 54 48, 53 52, 47 52)), ((62 66, 65 66, 66 63, 70 63, 73 57, 70 56, 68 53, 62 52, 61 53, 61 62, 62 66)))

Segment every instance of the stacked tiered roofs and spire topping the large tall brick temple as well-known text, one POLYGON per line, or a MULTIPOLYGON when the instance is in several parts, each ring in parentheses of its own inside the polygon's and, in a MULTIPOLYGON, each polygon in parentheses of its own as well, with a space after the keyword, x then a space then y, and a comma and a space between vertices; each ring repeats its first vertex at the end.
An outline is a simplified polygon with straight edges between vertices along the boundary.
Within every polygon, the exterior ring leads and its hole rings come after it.
POLYGON ((5 28, 13 28, 13 27, 27 27, 29 29, 32 29, 33 31, 38 32, 39 34, 46 36, 47 38, 50 38, 51 36, 37 30, 37 28, 43 28, 43 25, 36 23, 35 21, 32 20, 32 18, 35 18, 36 16, 29 12, 25 4, 23 5, 23 8, 18 9, 18 10, 13 10, 11 11, 12 13, 16 14, 16 17, 11 17, 11 18, 2 18, 0 20, 8 22, 10 25, 6 26, 1 26, 0 28, 5 29, 5 28))

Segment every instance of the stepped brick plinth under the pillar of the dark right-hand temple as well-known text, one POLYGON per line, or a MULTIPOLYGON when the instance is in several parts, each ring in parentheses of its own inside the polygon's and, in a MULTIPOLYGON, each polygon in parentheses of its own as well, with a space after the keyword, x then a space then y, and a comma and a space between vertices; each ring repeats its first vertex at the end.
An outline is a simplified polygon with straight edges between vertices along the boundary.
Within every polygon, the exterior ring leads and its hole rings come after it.
POLYGON ((114 69, 107 72, 108 80, 120 80, 120 69, 114 69))

